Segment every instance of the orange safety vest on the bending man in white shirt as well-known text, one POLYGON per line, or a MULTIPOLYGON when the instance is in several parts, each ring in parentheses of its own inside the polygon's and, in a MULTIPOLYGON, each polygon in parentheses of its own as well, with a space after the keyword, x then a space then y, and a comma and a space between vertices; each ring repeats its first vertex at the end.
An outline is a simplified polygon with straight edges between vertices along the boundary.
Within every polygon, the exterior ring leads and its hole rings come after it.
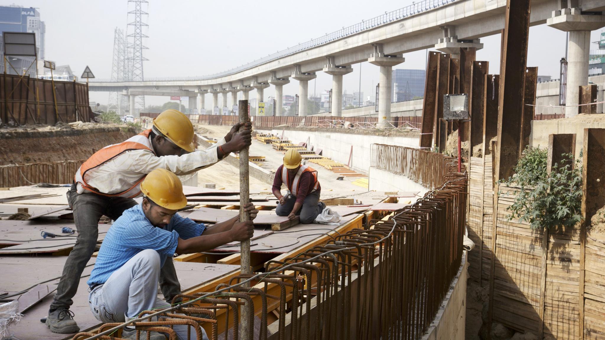
POLYGON ((129 139, 125 140, 122 143, 117 143, 113 145, 105 146, 105 148, 100 149, 97 152, 94 152, 90 158, 84 162, 80 168, 77 170, 76 175, 74 176, 74 182, 80 183, 82 188, 94 192, 95 194, 109 196, 109 197, 128 197, 134 198, 140 195, 140 184, 145 179, 146 175, 143 175, 139 180, 136 181, 129 189, 126 189, 122 192, 116 192, 116 194, 106 194, 105 192, 100 192, 96 188, 92 188, 88 186, 86 183, 86 174, 88 171, 97 168, 98 166, 103 165, 106 162, 109 162, 111 159, 114 159, 118 155, 123 154, 126 151, 130 150, 149 150, 153 152, 153 148, 151 146, 151 142, 149 141, 149 132, 151 129, 147 129, 137 136, 132 136, 129 139))

